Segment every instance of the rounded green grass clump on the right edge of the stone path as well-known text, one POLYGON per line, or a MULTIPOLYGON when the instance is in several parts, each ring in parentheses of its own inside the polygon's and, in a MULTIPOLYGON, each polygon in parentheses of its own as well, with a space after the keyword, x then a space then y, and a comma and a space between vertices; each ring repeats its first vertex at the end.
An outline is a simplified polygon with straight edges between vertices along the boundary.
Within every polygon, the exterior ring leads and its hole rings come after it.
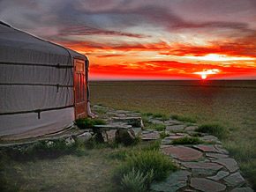
POLYGON ((201 133, 209 133, 218 138, 227 137, 227 129, 218 123, 202 124, 199 128, 195 129, 195 131, 199 131, 201 133))

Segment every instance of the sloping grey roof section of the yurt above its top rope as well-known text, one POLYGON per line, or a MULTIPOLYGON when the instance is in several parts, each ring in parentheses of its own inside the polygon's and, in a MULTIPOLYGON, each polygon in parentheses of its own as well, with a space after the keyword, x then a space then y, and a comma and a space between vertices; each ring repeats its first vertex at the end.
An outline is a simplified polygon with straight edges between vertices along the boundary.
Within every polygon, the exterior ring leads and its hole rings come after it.
POLYGON ((0 33, 0 61, 2 62, 73 65, 70 60, 71 55, 87 60, 85 55, 41 40, 1 21, 0 33))

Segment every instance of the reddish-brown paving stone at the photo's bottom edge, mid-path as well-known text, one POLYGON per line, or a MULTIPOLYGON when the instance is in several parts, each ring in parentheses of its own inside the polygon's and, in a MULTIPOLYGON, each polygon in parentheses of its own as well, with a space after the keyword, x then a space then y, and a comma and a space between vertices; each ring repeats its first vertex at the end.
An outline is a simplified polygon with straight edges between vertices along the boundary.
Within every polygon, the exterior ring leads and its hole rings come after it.
POLYGON ((226 189, 226 186, 204 178, 192 178, 190 186, 204 192, 218 192, 226 189))

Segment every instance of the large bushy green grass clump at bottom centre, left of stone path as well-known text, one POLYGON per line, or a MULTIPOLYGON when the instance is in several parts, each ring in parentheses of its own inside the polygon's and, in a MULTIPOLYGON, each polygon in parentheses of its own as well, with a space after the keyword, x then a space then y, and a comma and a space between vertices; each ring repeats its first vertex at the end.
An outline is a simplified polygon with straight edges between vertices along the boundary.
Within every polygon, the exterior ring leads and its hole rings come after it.
MULTIPOLYGON (((143 186, 146 186, 144 191, 148 191, 152 181, 163 181, 176 170, 177 166, 171 159, 158 151, 133 151, 125 157, 124 162, 116 167, 113 180, 117 185, 122 185, 122 181, 127 181, 127 177, 129 177, 129 185, 136 186, 138 182, 136 178, 140 177, 141 180, 144 180, 143 186), (136 170, 136 173, 132 170, 136 170), (126 179, 124 179, 125 177, 126 179), (134 183, 131 183, 132 181, 134 183)), ((124 188, 124 186, 122 187, 124 188)))

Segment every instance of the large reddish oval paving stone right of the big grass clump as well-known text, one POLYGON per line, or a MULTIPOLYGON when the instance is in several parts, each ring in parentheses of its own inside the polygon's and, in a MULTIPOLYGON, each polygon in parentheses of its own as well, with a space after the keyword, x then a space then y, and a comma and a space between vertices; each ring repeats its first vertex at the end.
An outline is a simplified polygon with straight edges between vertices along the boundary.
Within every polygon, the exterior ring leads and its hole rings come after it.
POLYGON ((203 155, 200 151, 184 146, 167 147, 162 149, 162 152, 183 161, 199 159, 203 155))

